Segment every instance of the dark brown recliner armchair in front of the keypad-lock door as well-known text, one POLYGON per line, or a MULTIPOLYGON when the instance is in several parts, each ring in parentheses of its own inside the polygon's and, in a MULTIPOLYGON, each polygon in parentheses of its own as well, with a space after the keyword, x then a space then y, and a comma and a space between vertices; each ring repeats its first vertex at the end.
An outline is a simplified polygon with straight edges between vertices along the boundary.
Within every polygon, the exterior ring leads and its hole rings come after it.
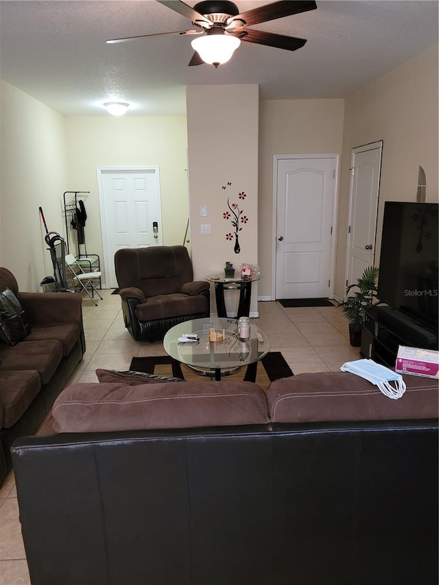
POLYGON ((115 269, 123 320, 137 341, 163 339, 178 323, 210 316, 209 283, 193 281, 185 246, 123 248, 115 269))

